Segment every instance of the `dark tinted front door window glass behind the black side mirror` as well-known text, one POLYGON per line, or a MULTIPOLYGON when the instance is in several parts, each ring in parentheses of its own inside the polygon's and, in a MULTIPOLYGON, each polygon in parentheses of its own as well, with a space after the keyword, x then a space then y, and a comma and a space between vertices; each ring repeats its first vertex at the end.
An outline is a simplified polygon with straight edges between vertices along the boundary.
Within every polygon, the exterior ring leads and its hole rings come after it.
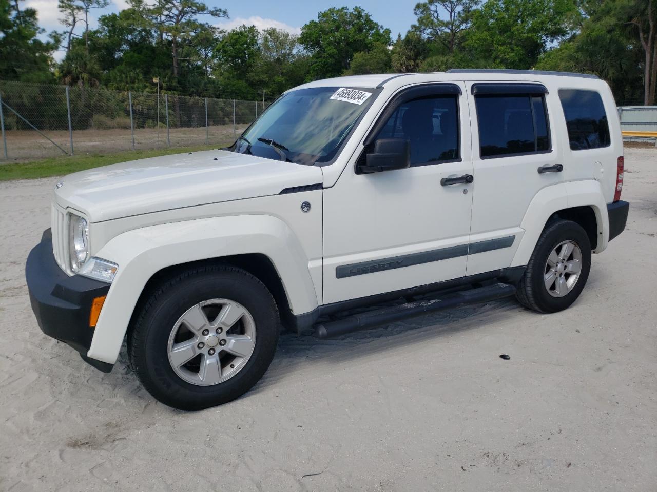
POLYGON ((409 141, 411 166, 459 159, 459 106, 453 95, 430 96, 400 104, 376 135, 409 141))

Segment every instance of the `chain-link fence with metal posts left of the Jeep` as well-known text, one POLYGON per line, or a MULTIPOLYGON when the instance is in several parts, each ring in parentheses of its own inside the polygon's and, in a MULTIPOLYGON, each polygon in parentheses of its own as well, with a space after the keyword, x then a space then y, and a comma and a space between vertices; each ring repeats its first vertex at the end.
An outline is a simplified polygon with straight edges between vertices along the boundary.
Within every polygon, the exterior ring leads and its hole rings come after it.
POLYGON ((11 81, 0 81, 0 101, 0 161, 225 145, 268 106, 11 81))

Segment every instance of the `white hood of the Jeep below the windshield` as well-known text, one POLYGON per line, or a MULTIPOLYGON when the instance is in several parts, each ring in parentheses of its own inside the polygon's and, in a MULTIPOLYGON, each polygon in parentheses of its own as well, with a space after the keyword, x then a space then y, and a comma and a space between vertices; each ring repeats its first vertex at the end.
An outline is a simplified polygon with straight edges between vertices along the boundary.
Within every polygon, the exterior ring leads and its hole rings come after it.
POLYGON ((225 150, 162 155, 70 174, 55 190, 62 207, 91 222, 221 201, 277 195, 322 182, 319 167, 225 150))

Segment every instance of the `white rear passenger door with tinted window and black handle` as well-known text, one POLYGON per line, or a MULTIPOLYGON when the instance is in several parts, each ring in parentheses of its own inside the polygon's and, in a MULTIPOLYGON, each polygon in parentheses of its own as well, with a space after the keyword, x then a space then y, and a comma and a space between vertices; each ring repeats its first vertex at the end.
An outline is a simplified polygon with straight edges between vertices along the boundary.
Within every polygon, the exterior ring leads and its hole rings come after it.
POLYGON ((557 167, 562 162, 545 86, 470 82, 466 87, 474 167, 466 274, 474 275, 510 266, 530 202, 541 188, 562 183, 557 167))

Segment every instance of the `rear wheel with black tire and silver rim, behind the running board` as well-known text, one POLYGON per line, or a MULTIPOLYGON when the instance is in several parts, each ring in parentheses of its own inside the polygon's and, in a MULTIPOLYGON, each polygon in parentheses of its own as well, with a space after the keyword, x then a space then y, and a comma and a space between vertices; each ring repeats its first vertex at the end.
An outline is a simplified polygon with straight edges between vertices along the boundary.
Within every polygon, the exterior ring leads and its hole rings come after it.
MULTIPOLYGON (((560 258, 559 255, 557 257, 560 258)), ((516 297, 527 308, 541 313, 564 310, 579 297, 589 278, 590 271, 591 242, 585 230, 572 220, 558 219, 549 222, 536 243, 525 273, 518 284, 516 297), (554 262, 555 256, 550 256, 553 251, 568 253, 568 250, 560 249, 565 243, 574 245, 573 253, 565 258, 565 262, 561 262, 560 268, 565 270, 559 273, 558 270, 553 270, 548 259, 550 258, 550 261, 554 262), (577 251, 579 251, 579 272, 572 285, 568 287, 568 282, 574 275, 569 273, 569 268, 574 270, 577 266, 575 258, 577 251), (560 281, 560 285, 555 282, 552 287, 548 287, 546 283, 550 283, 553 277, 556 278, 556 281, 560 281)))

